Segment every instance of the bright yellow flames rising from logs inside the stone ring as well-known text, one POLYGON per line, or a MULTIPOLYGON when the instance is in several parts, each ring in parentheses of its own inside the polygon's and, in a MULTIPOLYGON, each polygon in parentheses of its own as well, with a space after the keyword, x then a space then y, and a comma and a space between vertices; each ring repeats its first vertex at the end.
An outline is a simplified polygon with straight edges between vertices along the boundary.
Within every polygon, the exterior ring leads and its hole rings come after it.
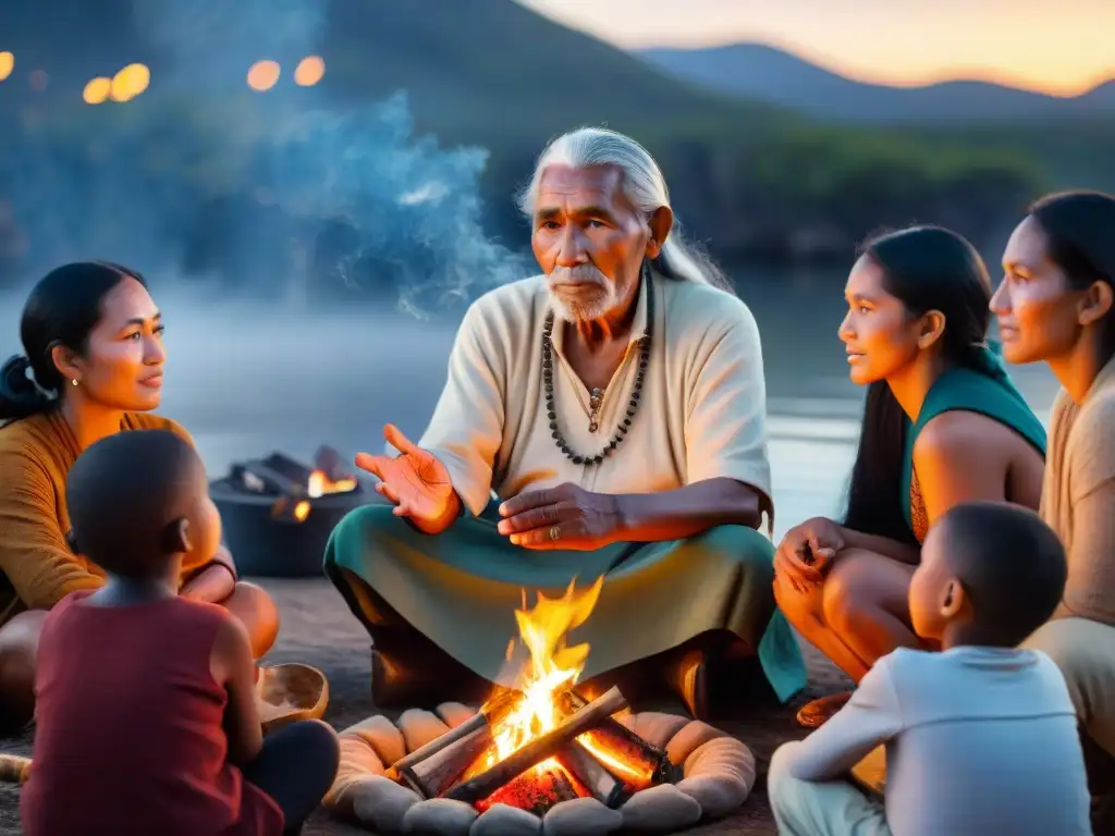
MULTIPOLYGON (((603 576, 592 586, 578 592, 575 579, 565 594, 559 599, 547 599, 539 593, 533 610, 515 610, 518 622, 520 641, 530 651, 530 664, 520 677, 515 689, 522 691, 523 699, 515 709, 492 729, 493 746, 487 755, 473 765, 469 772, 489 769, 532 739, 556 728, 564 712, 559 706, 558 693, 573 686, 589 658, 588 644, 565 643, 570 631, 583 624, 592 613, 604 584, 603 576)), ((508 655, 514 643, 508 647, 508 655)), ((546 772, 564 774, 565 769, 554 758, 543 760, 530 772, 542 776, 546 772)))

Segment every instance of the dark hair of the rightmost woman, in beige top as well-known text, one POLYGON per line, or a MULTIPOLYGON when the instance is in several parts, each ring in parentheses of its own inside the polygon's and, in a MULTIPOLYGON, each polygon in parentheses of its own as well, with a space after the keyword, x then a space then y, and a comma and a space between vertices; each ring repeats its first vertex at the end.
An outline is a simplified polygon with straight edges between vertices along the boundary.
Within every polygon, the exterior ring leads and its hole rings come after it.
MULTIPOLYGON (((1073 290, 1105 282, 1115 292, 1115 196, 1101 192, 1063 192, 1029 208, 1046 235, 1046 254, 1065 273, 1073 290)), ((1115 310, 1108 311, 1101 339, 1101 364, 1115 357, 1115 310)))

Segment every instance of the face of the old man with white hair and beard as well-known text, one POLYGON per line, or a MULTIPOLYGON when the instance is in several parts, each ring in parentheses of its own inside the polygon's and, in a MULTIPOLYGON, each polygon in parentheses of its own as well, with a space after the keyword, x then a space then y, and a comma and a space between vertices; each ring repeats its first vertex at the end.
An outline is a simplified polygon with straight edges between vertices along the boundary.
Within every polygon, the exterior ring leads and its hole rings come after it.
POLYGON ((622 173, 613 166, 551 165, 539 181, 531 244, 549 276, 554 309, 568 322, 623 310, 643 257, 658 254, 647 220, 621 186, 622 173))

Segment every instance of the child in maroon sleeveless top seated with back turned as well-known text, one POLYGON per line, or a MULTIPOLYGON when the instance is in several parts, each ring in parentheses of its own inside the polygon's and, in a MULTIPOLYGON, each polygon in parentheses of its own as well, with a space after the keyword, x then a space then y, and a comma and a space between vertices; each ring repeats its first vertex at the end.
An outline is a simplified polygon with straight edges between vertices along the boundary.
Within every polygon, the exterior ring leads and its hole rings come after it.
POLYGON ((337 736, 307 721, 264 740, 243 625, 176 595, 183 554, 221 532, 197 454, 163 430, 110 436, 74 465, 67 503, 108 581, 43 625, 23 833, 298 833, 336 777, 337 736))

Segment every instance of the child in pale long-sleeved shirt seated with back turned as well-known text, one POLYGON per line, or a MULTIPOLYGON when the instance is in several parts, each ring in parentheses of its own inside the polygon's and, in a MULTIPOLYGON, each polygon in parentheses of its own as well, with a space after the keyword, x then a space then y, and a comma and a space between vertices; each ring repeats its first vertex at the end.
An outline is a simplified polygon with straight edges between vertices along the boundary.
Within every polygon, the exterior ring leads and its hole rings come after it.
POLYGON ((1017 645, 1053 614, 1065 551, 1032 512, 954 506, 929 532, 910 584, 912 626, 942 652, 900 648, 851 701, 775 752, 767 779, 792 836, 1082 836, 1089 798, 1060 671, 1017 645), (885 804, 849 771, 886 746, 885 804))

